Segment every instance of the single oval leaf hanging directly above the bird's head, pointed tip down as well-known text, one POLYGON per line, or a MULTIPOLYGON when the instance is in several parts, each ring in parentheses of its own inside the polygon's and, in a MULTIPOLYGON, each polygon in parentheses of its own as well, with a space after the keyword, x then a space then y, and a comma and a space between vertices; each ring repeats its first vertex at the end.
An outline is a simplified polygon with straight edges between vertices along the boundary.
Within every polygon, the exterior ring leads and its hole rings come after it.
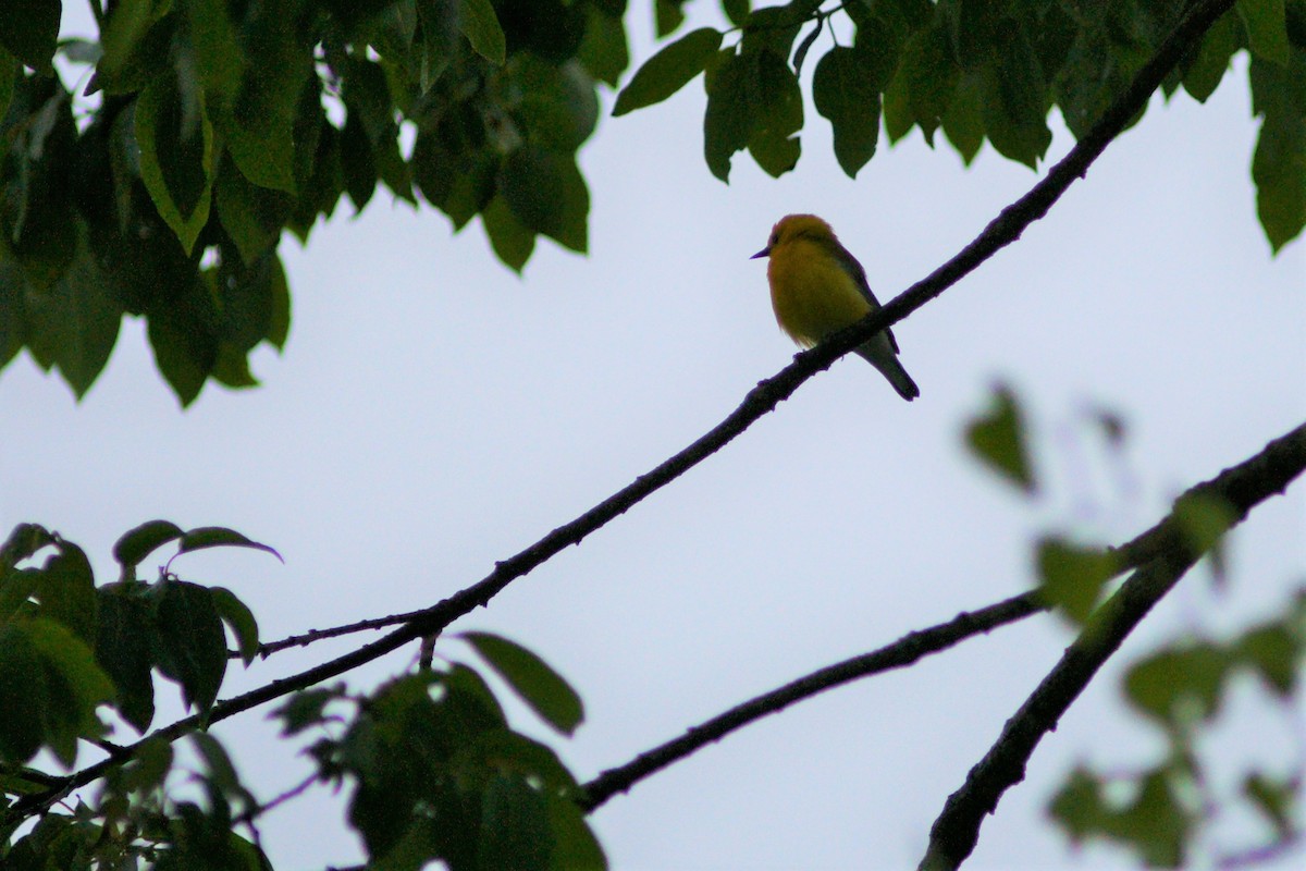
POLYGON ((880 135, 880 82, 871 56, 857 48, 831 48, 812 74, 812 101, 835 131, 835 158, 855 179, 875 154, 880 135))

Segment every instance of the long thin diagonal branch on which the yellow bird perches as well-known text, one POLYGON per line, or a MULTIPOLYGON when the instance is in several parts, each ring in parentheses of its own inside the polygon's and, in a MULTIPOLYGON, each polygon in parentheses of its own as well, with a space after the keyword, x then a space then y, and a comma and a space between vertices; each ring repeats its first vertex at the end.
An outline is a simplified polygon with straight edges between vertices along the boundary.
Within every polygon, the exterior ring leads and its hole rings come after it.
MULTIPOLYGON (((372 662, 387 653, 392 653, 409 641, 443 631, 453 620, 486 605, 512 581, 526 575, 564 548, 579 545, 594 530, 624 515, 646 496, 661 490, 710 457, 763 415, 769 414, 777 405, 793 396, 816 372, 829 368, 836 359, 865 342, 872 334, 899 323, 929 303, 973 272, 994 253, 1019 239, 1020 234, 1029 225, 1047 214, 1047 210, 1060 198, 1066 189, 1076 179, 1083 178, 1088 172, 1088 167, 1101 155, 1111 140, 1121 135, 1130 119, 1147 106, 1152 93, 1161 85, 1165 76, 1179 61, 1190 44, 1230 7, 1233 7, 1233 0, 1200 0, 1165 40, 1156 56, 1139 71, 1134 81, 1107 107, 1101 119, 1084 135, 1075 148, 1060 162, 1053 166, 1047 176, 1034 184, 1025 196, 1003 209, 973 242, 946 264, 912 285, 906 291, 884 306, 884 308, 867 315, 859 324, 854 324, 831 336, 828 341, 821 342, 816 347, 795 355, 793 363, 782 368, 773 377, 760 381, 757 387, 744 396, 743 402, 734 411, 687 448, 650 471, 637 477, 633 482, 575 520, 554 529, 530 547, 509 556, 502 563, 496 563, 494 571, 483 580, 464 588, 428 609, 417 611, 409 622, 389 635, 336 659, 219 703, 209 712, 206 722, 213 723, 226 720, 296 689, 336 678, 360 665, 372 662)), ((375 623, 368 628, 375 628, 375 623)), ((175 739, 200 726, 200 717, 187 717, 161 729, 155 734, 175 739)), ((140 743, 124 747, 120 753, 115 753, 110 759, 89 765, 64 778, 63 786, 56 790, 24 797, 13 807, 8 808, 5 815, 10 819, 17 819, 24 814, 31 814, 39 808, 48 807, 71 790, 93 782, 108 768, 125 763, 140 747, 140 743)))

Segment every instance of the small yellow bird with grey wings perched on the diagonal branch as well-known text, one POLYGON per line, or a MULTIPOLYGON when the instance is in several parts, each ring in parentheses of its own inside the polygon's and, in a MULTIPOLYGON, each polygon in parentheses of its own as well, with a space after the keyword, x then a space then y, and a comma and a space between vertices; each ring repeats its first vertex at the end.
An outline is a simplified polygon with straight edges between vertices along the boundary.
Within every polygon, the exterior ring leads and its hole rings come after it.
MULTIPOLYGON (((828 223, 814 214, 790 214, 771 230, 767 247, 751 259, 771 257, 767 279, 780 328, 803 347, 852 326, 880 303, 866 283, 866 270, 828 223)), ((910 402, 921 388, 899 363, 891 330, 876 333, 855 349, 910 402)))

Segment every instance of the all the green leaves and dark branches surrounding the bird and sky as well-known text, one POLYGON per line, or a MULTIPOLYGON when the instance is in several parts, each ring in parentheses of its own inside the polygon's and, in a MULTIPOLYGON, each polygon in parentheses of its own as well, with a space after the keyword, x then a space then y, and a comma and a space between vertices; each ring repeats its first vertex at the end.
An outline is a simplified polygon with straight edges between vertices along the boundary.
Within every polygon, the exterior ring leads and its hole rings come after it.
MULTIPOLYGON (((1205 101, 1233 56, 1247 51, 1260 119, 1256 214, 1275 251, 1306 225, 1306 0, 720 5, 729 27, 680 34, 683 3, 656 0, 666 44, 627 80, 613 114, 667 99, 701 74, 704 161, 722 182, 744 150, 773 176, 791 170, 808 97, 832 125, 835 159, 849 176, 874 157, 882 128, 891 142, 919 128, 931 145, 942 131, 968 163, 987 141, 1037 167, 1054 107, 1076 137, 1100 140, 1100 153, 1143 118, 1152 86, 1134 103, 1126 97, 1177 29, 1215 10, 1165 68, 1160 90, 1205 101), (1119 123, 1104 128, 1113 112, 1119 123)), ((539 236, 586 249, 589 192, 576 153, 596 129, 599 84, 616 89, 628 65, 620 0, 93 0, 93 9, 97 38, 63 42, 59 0, 0 10, 0 366, 26 349, 82 396, 132 315, 146 320, 158 368, 183 405, 209 380, 251 387, 251 350, 282 349, 289 334, 283 231, 307 242, 342 197, 360 212, 377 185, 414 206, 434 205, 456 230, 479 215, 494 251, 516 270, 539 236)), ((1008 244, 1096 153, 1085 149, 1059 167, 1064 178, 1049 176, 995 221, 986 253, 968 248, 862 325, 799 355, 704 439, 423 611, 269 644, 234 593, 172 571, 195 550, 276 555, 268 545, 226 528, 155 520, 123 534, 114 547, 119 577, 97 584, 77 545, 43 526, 17 526, 0 547, 4 866, 270 867, 257 820, 296 793, 261 804, 205 729, 281 700, 283 736, 304 742, 315 764, 302 789, 347 790, 347 824, 371 866, 603 867, 585 814, 615 789, 814 687, 909 663, 923 656, 922 639, 943 649, 1053 610, 1079 632, 1075 644, 931 834, 922 866, 956 867, 983 815, 1023 776, 1038 736, 1147 610, 1199 559, 1218 572, 1225 533, 1301 475, 1306 431, 1194 487, 1131 542, 1041 538, 1038 586, 1011 607, 963 615, 855 666, 812 675, 810 686, 729 712, 593 784, 579 784, 550 748, 515 730, 482 676, 488 667, 546 726, 569 735, 584 708, 556 671, 508 639, 440 632, 1008 244), (165 547, 175 555, 157 576, 141 577, 165 547), (289 646, 383 627, 392 631, 380 641, 218 700, 232 659, 249 666, 289 646), (324 686, 417 640, 424 656, 411 673, 368 693, 324 686), (454 658, 451 646, 475 656, 454 658), (178 686, 189 717, 155 726, 155 678, 178 686), (110 740, 114 718, 142 738, 110 740), (195 763, 174 752, 183 736, 195 763), (88 747, 98 761, 72 770, 88 747), (78 791, 91 784, 94 795, 78 791)), ((1024 420, 1019 397, 1002 388, 965 436, 981 462, 1029 496, 1040 481, 1024 420)), ((1100 423, 1123 439, 1118 419, 1100 423)), ((1200 731, 1235 675, 1255 675, 1275 697, 1299 697, 1303 601, 1229 637, 1177 641, 1132 666, 1126 697, 1162 730, 1166 756, 1135 774, 1071 774, 1050 814, 1072 841, 1113 840, 1151 866, 1185 862, 1205 814, 1194 794, 1216 800, 1200 789, 1200 731), (1131 793, 1123 802, 1114 790, 1121 781, 1131 793)), ((1293 810, 1301 795, 1301 777, 1250 770, 1241 800, 1277 845, 1301 837, 1293 810)))

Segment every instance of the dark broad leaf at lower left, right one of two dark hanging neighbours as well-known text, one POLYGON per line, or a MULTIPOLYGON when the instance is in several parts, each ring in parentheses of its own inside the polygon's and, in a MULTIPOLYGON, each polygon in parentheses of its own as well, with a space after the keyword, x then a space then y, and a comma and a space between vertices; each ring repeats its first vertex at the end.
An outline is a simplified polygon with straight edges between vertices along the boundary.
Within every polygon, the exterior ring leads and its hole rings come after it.
POLYGON ((162 581, 151 590, 159 649, 155 662, 182 684, 182 700, 201 718, 218 697, 227 670, 227 639, 213 592, 189 581, 162 581))

